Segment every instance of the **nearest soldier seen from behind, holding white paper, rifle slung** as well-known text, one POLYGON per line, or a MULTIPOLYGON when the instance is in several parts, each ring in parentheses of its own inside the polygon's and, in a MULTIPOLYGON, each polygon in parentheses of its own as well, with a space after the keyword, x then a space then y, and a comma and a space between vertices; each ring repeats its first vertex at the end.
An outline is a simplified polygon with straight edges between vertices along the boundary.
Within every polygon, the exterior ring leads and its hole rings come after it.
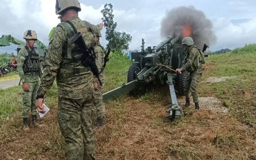
POLYGON ((86 46, 94 47, 94 30, 98 26, 82 21, 78 17, 81 11, 78 0, 57 0, 56 14, 62 23, 49 39, 45 68, 38 90, 36 107, 43 112, 43 98, 47 90, 57 80, 59 108, 57 116, 59 126, 67 146, 67 159, 95 159, 95 139, 92 127, 93 80, 88 66, 83 66, 81 48, 70 41, 76 31, 81 32, 86 46))

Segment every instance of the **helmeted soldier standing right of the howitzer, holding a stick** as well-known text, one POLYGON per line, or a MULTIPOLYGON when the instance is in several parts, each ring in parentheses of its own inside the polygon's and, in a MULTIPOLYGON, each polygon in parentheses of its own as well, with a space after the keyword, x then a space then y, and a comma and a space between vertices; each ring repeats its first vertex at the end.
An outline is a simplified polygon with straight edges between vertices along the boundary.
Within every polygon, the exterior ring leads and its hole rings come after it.
POLYGON ((191 37, 183 38, 182 45, 186 47, 187 55, 185 58, 185 64, 179 69, 176 69, 177 73, 182 71, 188 71, 188 77, 185 81, 186 88, 186 106, 190 105, 189 91, 191 91, 193 102, 195 103, 196 110, 199 110, 199 100, 197 94, 197 85, 203 73, 203 66, 200 58, 199 50, 194 46, 194 41, 191 37))

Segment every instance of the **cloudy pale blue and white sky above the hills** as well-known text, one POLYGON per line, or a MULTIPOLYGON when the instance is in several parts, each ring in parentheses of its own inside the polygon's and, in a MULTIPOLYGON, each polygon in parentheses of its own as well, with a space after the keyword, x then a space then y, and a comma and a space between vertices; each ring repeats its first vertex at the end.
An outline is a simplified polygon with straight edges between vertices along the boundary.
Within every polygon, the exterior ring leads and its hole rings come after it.
MULTIPOLYGON (((0 34, 23 39, 25 30, 35 30, 38 39, 47 45, 49 31, 60 22, 55 14, 55 3, 55 0, 1 0, 0 34)), ((256 44, 255 0, 80 0, 79 17, 93 24, 102 22, 101 10, 106 3, 113 5, 116 30, 132 36, 131 50, 141 49, 141 38, 145 39, 145 46, 157 46, 164 39, 161 36, 163 18, 170 10, 181 6, 194 7, 212 23, 210 30, 216 36, 216 41, 210 42, 210 50, 256 44)), ((105 29, 101 38, 103 46, 107 44, 104 33, 105 29)), ((15 52, 15 47, 0 47, 0 53, 15 52)))

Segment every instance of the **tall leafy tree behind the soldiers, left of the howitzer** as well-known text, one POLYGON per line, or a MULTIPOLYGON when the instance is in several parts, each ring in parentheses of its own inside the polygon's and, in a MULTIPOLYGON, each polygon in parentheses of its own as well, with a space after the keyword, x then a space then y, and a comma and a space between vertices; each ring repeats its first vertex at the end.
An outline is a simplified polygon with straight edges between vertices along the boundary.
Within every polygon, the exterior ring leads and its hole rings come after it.
POLYGON ((129 42, 131 42, 131 35, 124 31, 117 32, 117 22, 114 22, 113 6, 112 4, 105 4, 104 9, 101 10, 103 15, 102 21, 105 25, 105 39, 109 41, 107 47, 118 51, 129 49, 129 42))

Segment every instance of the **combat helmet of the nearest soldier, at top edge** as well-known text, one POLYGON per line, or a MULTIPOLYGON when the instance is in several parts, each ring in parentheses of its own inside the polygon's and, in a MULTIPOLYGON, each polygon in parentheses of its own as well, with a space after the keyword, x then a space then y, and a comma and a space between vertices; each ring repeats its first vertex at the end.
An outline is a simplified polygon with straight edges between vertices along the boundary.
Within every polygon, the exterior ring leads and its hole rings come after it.
POLYGON ((75 8, 78 12, 81 11, 81 6, 78 0, 56 0, 55 8, 57 15, 69 8, 75 8))

